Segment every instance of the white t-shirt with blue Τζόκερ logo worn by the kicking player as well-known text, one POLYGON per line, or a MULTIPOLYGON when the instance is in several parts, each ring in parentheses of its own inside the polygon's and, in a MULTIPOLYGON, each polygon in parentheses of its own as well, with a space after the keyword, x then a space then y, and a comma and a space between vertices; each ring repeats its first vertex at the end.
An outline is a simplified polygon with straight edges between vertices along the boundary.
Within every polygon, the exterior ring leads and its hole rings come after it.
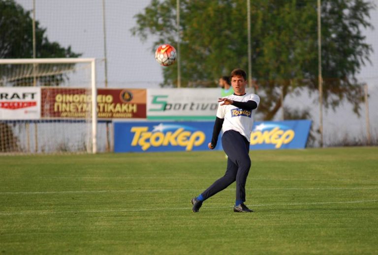
MULTIPOLYGON (((237 96, 235 94, 226 96, 225 98, 233 101, 247 102, 254 101, 260 103, 260 97, 256 94, 245 94, 243 96, 237 96)), ((247 138, 248 142, 251 142, 251 132, 253 127, 253 118, 256 109, 252 111, 239 109, 233 105, 222 105, 219 103, 217 117, 224 118, 222 130, 223 133, 227 130, 235 130, 247 138)))

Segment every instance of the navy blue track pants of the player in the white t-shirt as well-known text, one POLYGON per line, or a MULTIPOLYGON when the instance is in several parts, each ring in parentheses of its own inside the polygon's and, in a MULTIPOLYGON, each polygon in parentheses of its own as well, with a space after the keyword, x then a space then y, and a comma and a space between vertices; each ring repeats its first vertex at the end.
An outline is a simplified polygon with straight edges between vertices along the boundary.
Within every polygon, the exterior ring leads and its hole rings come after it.
POLYGON ((246 201, 246 181, 251 168, 250 143, 239 132, 228 130, 222 136, 222 146, 228 156, 227 170, 202 196, 210 198, 236 181, 236 200, 246 201))

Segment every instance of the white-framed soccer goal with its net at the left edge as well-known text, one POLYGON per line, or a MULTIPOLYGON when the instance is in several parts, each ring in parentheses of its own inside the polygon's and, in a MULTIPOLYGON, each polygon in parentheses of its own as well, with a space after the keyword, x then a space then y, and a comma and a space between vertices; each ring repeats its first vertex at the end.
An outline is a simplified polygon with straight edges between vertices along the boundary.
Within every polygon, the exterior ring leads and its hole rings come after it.
POLYGON ((96 153, 94 58, 0 59, 0 153, 96 153))

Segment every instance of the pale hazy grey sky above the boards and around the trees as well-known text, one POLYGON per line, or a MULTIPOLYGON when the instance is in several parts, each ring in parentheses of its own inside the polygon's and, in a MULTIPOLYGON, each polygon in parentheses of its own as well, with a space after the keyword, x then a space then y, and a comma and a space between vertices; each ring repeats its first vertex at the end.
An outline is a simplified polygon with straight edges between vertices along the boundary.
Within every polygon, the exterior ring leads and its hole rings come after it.
MULTIPOLYGON (((143 43, 130 33, 130 28, 136 25, 134 15, 143 11, 150 1, 105 1, 110 82, 156 86, 163 80, 163 67, 155 61, 152 50, 153 38, 143 43)), ((16 2, 32 10, 32 0, 16 2)), ((35 0, 35 5, 36 19, 43 28, 47 28, 50 41, 57 41, 64 47, 71 45, 73 51, 83 53, 82 57, 104 58, 102 0, 35 0)), ((378 79, 377 9, 371 12, 371 23, 376 29, 364 33, 375 52, 371 55, 372 65, 367 63, 358 75, 363 81, 378 79)), ((98 75, 101 78, 101 72, 98 75)))

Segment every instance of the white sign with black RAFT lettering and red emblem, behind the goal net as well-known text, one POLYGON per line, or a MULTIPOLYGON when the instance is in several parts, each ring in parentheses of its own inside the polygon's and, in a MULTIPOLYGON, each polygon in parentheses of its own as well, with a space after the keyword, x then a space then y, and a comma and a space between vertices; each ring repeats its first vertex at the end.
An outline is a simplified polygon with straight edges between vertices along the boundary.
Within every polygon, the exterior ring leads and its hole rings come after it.
POLYGON ((40 87, 0 87, 0 119, 39 119, 40 87))

